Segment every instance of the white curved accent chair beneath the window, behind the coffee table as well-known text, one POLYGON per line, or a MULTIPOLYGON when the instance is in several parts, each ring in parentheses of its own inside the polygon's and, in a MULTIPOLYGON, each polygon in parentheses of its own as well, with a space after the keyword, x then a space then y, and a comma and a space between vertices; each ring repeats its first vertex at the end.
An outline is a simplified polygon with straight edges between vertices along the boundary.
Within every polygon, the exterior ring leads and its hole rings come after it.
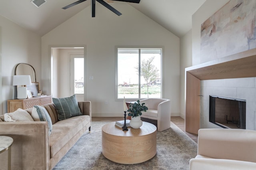
POLYGON ((169 99, 143 99, 140 104, 145 103, 148 110, 142 112, 141 120, 153 123, 158 131, 171 127, 171 101, 169 99))

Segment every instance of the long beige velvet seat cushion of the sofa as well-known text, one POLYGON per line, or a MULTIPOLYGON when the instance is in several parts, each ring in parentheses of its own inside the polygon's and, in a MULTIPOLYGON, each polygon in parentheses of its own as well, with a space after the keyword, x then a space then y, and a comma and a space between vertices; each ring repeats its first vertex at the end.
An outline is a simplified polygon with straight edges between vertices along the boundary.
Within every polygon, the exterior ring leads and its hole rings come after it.
POLYGON ((89 115, 71 117, 69 119, 58 121, 52 126, 52 134, 49 136, 50 158, 52 158, 60 149, 84 127, 90 123, 89 115))

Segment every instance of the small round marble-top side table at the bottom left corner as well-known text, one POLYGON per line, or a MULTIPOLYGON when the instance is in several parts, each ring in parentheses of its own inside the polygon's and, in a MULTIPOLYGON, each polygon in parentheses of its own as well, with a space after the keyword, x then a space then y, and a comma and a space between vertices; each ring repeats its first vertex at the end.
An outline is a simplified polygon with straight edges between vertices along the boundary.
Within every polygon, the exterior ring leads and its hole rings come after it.
POLYGON ((11 146, 13 139, 9 136, 0 136, 0 154, 8 150, 8 170, 11 170, 11 146))

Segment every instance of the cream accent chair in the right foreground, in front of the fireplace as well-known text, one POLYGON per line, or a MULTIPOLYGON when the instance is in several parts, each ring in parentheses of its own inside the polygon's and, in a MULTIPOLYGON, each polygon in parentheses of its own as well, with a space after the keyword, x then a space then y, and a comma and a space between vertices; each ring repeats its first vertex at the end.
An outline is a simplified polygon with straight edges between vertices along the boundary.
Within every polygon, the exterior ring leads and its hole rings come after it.
POLYGON ((190 170, 256 170, 256 131, 210 128, 198 130, 198 153, 190 170))

